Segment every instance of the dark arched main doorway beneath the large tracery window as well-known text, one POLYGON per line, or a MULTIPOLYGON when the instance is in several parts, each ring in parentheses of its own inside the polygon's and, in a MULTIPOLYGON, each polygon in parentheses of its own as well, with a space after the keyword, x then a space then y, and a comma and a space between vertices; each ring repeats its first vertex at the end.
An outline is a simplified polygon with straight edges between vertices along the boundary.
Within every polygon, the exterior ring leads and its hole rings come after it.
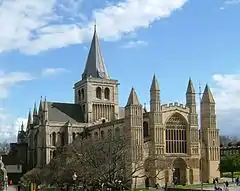
POLYGON ((182 158, 177 158, 173 161, 173 181, 175 184, 186 184, 187 164, 182 158))

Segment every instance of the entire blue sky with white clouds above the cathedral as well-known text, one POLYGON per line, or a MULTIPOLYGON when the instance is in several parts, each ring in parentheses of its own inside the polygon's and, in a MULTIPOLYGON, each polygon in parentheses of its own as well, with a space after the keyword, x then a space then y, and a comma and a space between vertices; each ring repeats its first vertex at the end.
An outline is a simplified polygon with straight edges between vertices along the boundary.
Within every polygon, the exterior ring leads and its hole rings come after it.
POLYGON ((163 103, 184 102, 188 78, 208 83, 219 128, 240 115, 239 0, 3 0, 0 134, 13 139, 40 96, 72 102, 96 20, 105 64, 125 105, 132 86, 148 104, 155 73, 163 103), (7 22, 6 22, 7 21, 7 22))

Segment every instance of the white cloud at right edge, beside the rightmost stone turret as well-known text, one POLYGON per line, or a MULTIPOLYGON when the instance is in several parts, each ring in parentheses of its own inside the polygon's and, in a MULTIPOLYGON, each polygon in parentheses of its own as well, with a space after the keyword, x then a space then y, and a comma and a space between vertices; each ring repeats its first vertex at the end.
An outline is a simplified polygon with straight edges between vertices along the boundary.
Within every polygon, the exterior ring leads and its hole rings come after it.
POLYGON ((240 136, 240 74, 215 74, 213 80, 220 132, 240 136))

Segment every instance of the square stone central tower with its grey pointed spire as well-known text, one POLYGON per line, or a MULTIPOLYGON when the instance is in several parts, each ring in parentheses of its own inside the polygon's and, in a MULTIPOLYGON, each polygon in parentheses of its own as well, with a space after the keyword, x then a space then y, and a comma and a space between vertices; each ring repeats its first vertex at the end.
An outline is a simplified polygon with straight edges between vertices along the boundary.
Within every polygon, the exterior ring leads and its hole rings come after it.
POLYGON ((110 79, 101 54, 96 26, 82 79, 75 83, 75 104, 86 123, 118 118, 118 81, 110 79))

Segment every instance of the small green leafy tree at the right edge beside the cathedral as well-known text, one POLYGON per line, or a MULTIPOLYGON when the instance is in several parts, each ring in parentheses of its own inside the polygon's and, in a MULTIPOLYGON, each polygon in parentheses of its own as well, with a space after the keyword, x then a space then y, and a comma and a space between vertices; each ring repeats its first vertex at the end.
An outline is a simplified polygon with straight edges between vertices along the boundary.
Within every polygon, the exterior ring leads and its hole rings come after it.
POLYGON ((232 181, 235 172, 240 170, 240 154, 225 155, 219 164, 221 172, 231 172, 232 181))

